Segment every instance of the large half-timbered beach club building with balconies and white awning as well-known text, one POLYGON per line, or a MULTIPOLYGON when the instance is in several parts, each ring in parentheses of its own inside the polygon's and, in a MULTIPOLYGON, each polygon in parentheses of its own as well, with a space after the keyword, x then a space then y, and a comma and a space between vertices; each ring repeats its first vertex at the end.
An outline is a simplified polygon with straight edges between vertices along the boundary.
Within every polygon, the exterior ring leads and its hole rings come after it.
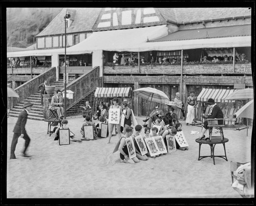
MULTIPOLYGON (((170 101, 179 92, 185 103, 191 90, 198 96, 203 88, 253 87, 251 9, 65 8, 36 36, 33 49, 7 57, 8 82, 19 94, 14 105, 27 101, 50 76, 63 82, 65 63, 67 89, 74 92, 67 114, 81 112, 85 101, 93 104, 96 87, 150 86, 170 101), (13 68, 17 57, 21 66, 13 68), (33 66, 33 57, 47 66, 33 66)), ((145 116, 150 102, 134 95, 132 100, 135 115, 145 116)), ((47 101, 44 118, 46 106, 47 101)))

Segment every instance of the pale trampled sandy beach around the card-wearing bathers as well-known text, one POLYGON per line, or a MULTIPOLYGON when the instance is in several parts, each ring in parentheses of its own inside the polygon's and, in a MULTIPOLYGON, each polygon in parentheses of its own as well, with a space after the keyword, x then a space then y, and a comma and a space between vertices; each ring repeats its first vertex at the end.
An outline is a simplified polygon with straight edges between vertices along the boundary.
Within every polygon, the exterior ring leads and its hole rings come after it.
MULTIPOLYGON (((144 117, 137 117, 143 125, 144 117)), ((81 116, 68 117, 69 128, 81 137, 81 116)), ((189 150, 177 150, 148 161, 132 165, 122 163, 119 152, 112 154, 118 141, 111 144, 101 138, 59 146, 54 135, 47 134, 47 122, 28 120, 26 130, 31 138, 28 154, 21 155, 24 140, 16 147, 17 159, 10 159, 13 128, 17 118, 9 117, 7 136, 7 198, 242 198, 231 187, 230 161, 246 163, 251 158, 251 127, 224 129, 228 162, 216 157, 216 165, 207 157, 198 161, 199 145, 195 139, 200 126, 185 126, 182 130, 189 150), (13 172, 15 171, 15 172, 13 172)), ((144 128, 143 128, 144 130, 144 128)), ((202 155, 209 155, 208 145, 202 145, 202 155)), ((216 155, 223 155, 222 145, 216 145, 216 155)))

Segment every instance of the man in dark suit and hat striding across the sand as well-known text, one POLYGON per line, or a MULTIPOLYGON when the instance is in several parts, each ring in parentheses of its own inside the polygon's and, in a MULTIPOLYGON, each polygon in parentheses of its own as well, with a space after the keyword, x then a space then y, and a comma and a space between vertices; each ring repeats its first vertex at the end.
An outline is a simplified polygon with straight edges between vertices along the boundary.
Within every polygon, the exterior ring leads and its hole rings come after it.
POLYGON ((19 116, 18 116, 18 120, 15 124, 15 127, 13 129, 13 139, 12 139, 12 144, 11 144, 11 156, 10 156, 10 159, 16 159, 16 156, 15 156, 15 148, 16 148, 16 145, 18 143, 18 138, 23 138, 25 140, 25 149, 23 151, 23 156, 24 157, 30 157, 26 151, 27 151, 27 148, 29 146, 29 143, 30 143, 30 138, 26 132, 26 129, 25 129, 25 125, 27 123, 27 118, 28 118, 28 112, 31 110, 31 106, 33 104, 30 103, 30 102, 26 102, 24 104, 24 110, 22 112, 19 113, 19 116))

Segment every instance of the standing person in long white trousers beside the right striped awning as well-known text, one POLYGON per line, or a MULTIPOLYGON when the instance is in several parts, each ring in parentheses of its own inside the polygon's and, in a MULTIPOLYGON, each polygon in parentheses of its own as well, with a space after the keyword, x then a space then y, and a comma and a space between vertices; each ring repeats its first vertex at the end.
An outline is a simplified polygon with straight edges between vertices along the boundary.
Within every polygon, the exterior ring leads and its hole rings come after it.
MULTIPOLYGON (((197 106, 197 97, 195 91, 190 91, 190 96, 187 98, 185 109, 187 109, 186 126, 192 124, 195 119, 195 108, 197 106)), ((196 121, 196 120, 195 120, 196 121)))

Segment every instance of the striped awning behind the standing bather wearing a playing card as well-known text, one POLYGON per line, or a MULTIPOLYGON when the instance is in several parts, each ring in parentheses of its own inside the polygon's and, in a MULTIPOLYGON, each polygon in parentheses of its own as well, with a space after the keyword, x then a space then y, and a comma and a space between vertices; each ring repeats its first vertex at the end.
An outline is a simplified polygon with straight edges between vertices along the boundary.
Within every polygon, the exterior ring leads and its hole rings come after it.
POLYGON ((96 87, 95 97, 129 97, 131 87, 96 87))

